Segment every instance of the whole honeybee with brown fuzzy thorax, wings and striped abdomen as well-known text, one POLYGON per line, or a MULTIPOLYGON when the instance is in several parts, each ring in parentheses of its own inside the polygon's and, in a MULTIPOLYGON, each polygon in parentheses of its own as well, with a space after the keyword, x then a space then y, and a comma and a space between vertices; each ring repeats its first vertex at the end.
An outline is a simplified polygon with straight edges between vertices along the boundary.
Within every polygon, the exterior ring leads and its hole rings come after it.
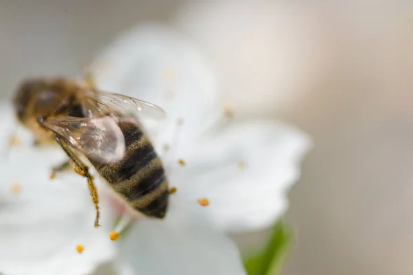
POLYGON ((14 96, 17 120, 34 133, 36 142, 55 141, 69 161, 53 173, 72 167, 87 179, 99 225, 99 199, 85 157, 131 208, 163 218, 169 188, 160 157, 137 115, 162 117, 154 104, 96 89, 67 78, 35 78, 21 83, 14 96), (131 113, 132 111, 132 113, 131 113))

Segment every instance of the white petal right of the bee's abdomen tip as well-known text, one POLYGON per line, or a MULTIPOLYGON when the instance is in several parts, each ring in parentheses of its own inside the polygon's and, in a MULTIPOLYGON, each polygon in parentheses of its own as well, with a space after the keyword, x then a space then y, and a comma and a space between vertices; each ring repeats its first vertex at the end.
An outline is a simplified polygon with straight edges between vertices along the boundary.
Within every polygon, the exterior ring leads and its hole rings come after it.
POLYGON ((286 209, 309 138, 273 122, 235 124, 211 136, 180 151, 186 165, 170 176, 176 199, 192 207, 209 199, 202 210, 229 232, 271 225, 286 209))

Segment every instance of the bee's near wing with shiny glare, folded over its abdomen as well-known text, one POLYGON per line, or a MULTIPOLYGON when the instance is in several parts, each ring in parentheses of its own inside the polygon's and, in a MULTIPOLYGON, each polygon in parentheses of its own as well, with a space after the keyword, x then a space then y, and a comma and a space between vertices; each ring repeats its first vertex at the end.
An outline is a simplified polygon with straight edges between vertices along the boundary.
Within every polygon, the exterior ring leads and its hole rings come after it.
POLYGON ((118 162, 125 155, 125 137, 116 120, 102 118, 47 118, 43 126, 98 162, 118 162))

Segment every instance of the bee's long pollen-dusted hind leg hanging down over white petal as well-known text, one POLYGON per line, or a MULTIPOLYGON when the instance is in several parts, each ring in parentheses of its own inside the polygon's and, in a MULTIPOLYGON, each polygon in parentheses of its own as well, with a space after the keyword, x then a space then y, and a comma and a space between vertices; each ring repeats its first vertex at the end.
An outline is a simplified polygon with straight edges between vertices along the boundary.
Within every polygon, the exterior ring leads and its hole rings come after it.
POLYGON ((99 198, 98 198, 98 192, 96 191, 96 187, 94 186, 94 183, 93 183, 93 177, 92 175, 89 174, 89 169, 87 168, 85 164, 83 164, 83 162, 81 162, 81 159, 79 159, 72 152, 72 150, 70 150, 70 148, 67 146, 64 140, 62 140, 60 137, 54 137, 54 140, 56 140, 56 142, 62 147, 63 151, 65 151, 67 157, 69 157, 70 163, 72 164, 74 171, 78 173, 78 175, 81 175, 82 177, 86 177, 87 186, 89 187, 89 191, 90 191, 90 197, 92 197, 92 201, 96 209, 96 219, 95 219, 94 226, 98 227, 99 218, 100 218, 99 198))

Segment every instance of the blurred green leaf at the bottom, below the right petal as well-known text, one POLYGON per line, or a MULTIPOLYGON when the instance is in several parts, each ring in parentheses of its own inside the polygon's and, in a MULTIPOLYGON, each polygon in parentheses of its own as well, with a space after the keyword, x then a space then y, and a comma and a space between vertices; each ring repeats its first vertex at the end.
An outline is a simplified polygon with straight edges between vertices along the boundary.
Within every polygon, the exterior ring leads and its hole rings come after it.
POLYGON ((290 228, 279 221, 264 249, 244 261, 248 275, 280 274, 292 235, 290 228))

